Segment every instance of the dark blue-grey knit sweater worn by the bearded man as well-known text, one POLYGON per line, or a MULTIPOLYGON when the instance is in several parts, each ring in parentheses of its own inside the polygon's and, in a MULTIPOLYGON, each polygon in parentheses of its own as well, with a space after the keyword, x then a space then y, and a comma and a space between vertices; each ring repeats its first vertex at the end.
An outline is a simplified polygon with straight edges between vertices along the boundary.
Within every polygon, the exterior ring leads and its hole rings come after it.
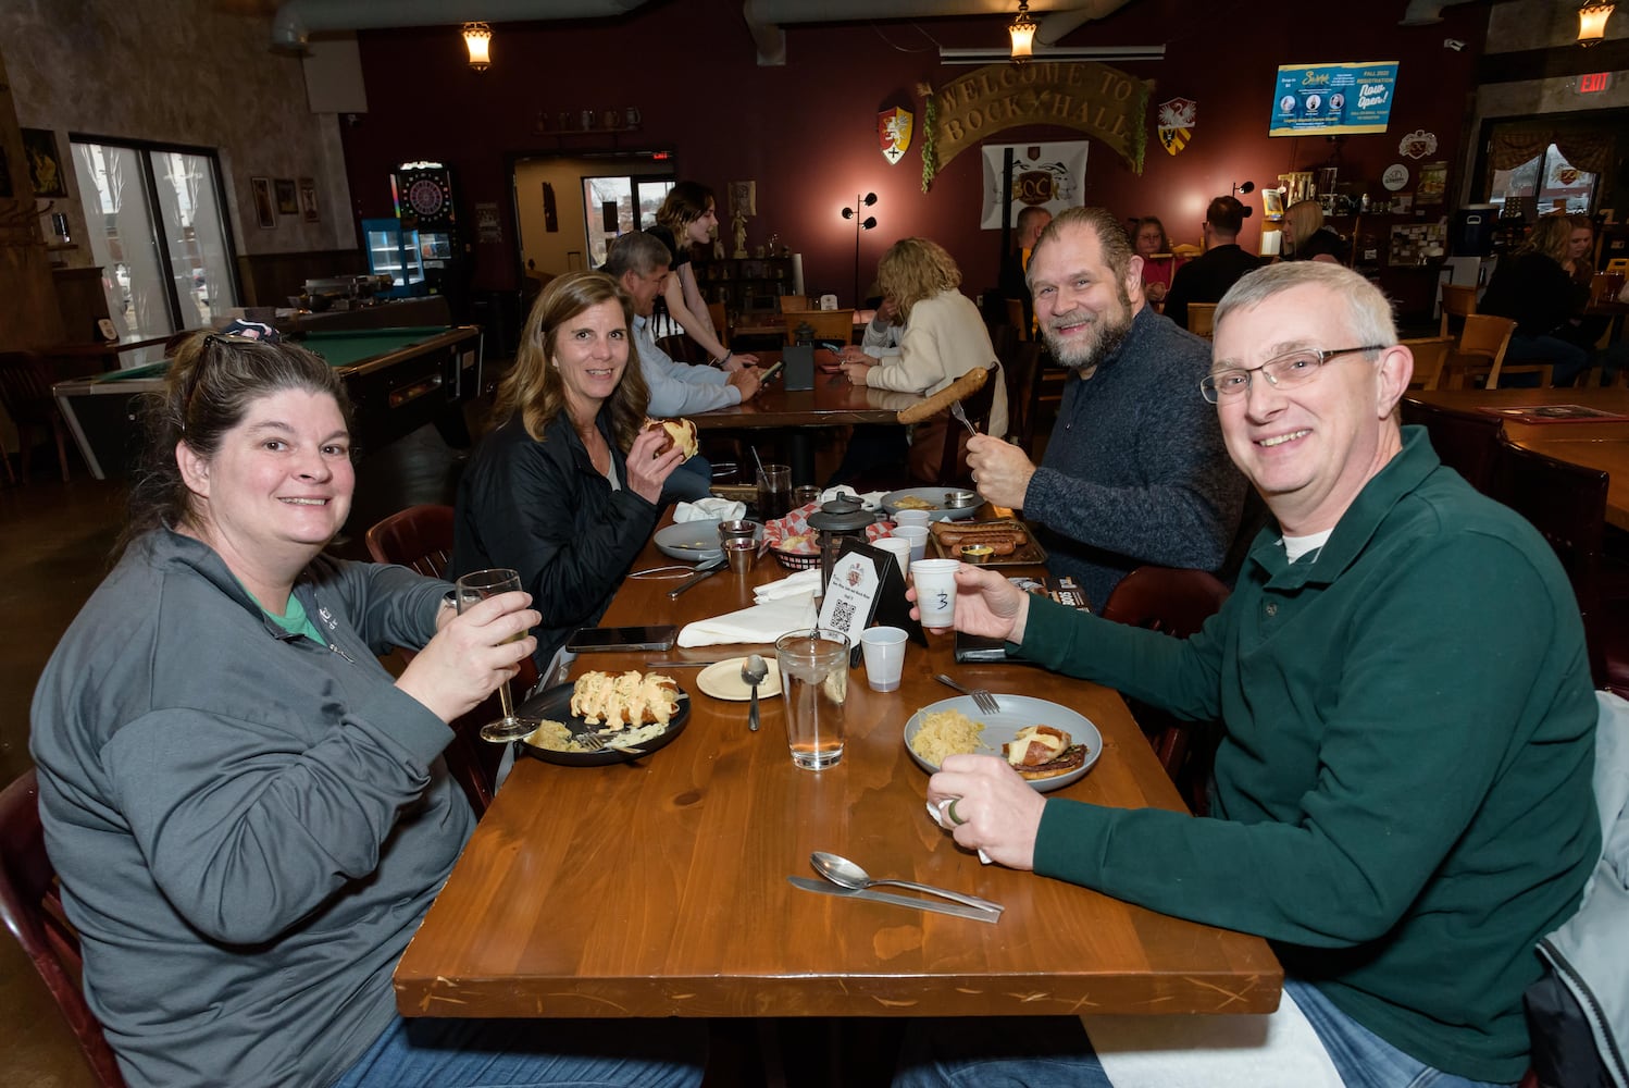
POLYGON ((1088 381, 1067 381, 1023 513, 1093 608, 1142 564, 1217 570, 1227 557, 1245 477, 1199 394, 1209 370, 1209 342, 1144 308, 1088 381))

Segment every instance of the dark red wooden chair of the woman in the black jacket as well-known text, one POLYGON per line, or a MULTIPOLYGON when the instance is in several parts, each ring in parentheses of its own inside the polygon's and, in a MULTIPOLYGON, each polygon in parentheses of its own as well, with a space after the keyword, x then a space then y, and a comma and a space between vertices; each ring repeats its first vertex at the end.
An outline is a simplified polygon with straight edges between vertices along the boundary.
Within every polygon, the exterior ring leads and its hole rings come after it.
MULTIPOLYGON (((399 564, 430 578, 443 578, 453 557, 453 508, 424 505, 393 513, 368 529, 367 544, 375 562, 399 564)), ((397 653, 407 661, 414 656, 406 648, 397 648, 397 653)), ((520 676, 510 681, 512 689, 520 694, 536 682, 536 665, 531 658, 523 658, 520 676)), ((464 788, 477 818, 492 805, 498 764, 503 761, 503 746, 482 741, 481 726, 500 715, 498 694, 492 692, 479 707, 451 723, 458 736, 443 752, 448 772, 464 788)))

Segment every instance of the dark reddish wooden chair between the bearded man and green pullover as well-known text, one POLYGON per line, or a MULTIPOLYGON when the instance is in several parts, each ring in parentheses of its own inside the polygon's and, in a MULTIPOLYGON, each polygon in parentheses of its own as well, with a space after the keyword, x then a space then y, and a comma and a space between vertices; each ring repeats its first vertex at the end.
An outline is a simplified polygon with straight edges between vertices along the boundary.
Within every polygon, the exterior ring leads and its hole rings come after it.
MULTIPOLYGON (((1204 570, 1137 567, 1119 580, 1098 614, 1116 624, 1188 638, 1204 627, 1227 598, 1228 588, 1204 570)), ((1205 788, 1215 749, 1210 743, 1192 741, 1196 733, 1205 735, 1201 738, 1205 741, 1217 739, 1215 726, 1207 730, 1204 723, 1181 722, 1145 704, 1135 704, 1132 717, 1153 744, 1165 774, 1171 775, 1188 805, 1202 814, 1209 806, 1205 788)))

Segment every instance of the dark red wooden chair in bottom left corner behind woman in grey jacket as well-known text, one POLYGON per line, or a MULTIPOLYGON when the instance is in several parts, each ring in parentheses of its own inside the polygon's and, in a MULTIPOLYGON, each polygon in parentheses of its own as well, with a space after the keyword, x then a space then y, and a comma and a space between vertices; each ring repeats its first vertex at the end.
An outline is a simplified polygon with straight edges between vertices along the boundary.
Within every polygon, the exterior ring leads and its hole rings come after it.
POLYGON ((46 855, 39 823, 39 780, 29 767, 0 792, 0 917, 73 1029, 80 1052, 103 1088, 124 1088, 119 1062, 101 1021, 80 989, 85 959, 80 935, 62 910, 57 870, 46 855))

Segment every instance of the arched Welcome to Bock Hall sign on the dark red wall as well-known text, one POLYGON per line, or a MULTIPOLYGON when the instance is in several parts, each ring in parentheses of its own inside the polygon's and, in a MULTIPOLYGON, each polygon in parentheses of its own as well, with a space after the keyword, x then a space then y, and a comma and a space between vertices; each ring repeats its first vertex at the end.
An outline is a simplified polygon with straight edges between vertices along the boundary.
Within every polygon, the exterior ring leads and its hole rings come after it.
MULTIPOLYGON (((1142 173, 1148 130, 1148 85, 1095 62, 990 64, 958 77, 929 96, 924 165, 933 148, 937 168, 997 132, 1018 125, 1060 125, 1106 143, 1142 173)), ((924 169, 924 187, 932 176, 924 169)))

